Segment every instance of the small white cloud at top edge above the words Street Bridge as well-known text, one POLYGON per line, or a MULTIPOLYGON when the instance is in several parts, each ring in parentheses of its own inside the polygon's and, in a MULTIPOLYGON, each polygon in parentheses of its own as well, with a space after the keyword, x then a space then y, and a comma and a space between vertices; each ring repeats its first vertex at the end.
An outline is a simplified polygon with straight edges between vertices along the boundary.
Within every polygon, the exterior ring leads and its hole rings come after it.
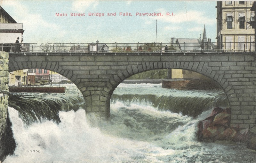
POLYGON ((73 1, 71 9, 73 11, 84 12, 88 7, 96 7, 99 4, 98 1, 83 1, 77 0, 73 1))

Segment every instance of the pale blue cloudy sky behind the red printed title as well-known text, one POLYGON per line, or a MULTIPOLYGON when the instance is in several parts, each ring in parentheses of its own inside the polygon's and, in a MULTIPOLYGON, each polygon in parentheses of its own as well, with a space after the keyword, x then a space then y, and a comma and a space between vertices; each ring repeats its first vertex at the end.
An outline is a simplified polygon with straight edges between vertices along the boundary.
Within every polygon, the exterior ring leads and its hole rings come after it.
POLYGON ((216 1, 1 0, 4 10, 23 23, 23 43, 169 42, 171 37, 203 37, 204 24, 207 38, 215 42, 216 5, 216 1), (105 15, 88 16, 89 12, 105 15), (115 12, 116 16, 107 16, 115 12), (136 12, 163 16, 136 16, 136 12), (68 16, 56 17, 56 13, 68 16))

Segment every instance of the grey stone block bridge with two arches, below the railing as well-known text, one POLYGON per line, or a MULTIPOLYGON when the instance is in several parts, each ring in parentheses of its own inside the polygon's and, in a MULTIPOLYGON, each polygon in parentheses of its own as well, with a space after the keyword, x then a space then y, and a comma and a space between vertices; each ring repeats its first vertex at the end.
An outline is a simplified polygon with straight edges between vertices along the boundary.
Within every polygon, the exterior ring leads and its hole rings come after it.
POLYGON ((231 107, 231 125, 256 123, 254 53, 203 54, 10 54, 9 72, 47 69, 70 79, 83 93, 86 114, 110 116, 110 98, 124 79, 143 71, 178 68, 198 72, 218 82, 231 107))

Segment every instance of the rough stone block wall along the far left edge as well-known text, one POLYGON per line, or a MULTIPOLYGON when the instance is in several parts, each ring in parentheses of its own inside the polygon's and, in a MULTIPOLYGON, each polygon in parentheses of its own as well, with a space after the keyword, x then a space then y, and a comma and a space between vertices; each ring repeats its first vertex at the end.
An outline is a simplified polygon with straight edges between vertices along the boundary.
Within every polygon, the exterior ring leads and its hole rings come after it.
MULTIPOLYGON (((0 91, 8 91, 8 58, 9 54, 6 52, 0 52, 0 91)), ((8 109, 8 95, 0 92, 0 160, 3 161, 4 157, 4 134, 6 131, 6 120, 7 120, 7 109, 8 109)))

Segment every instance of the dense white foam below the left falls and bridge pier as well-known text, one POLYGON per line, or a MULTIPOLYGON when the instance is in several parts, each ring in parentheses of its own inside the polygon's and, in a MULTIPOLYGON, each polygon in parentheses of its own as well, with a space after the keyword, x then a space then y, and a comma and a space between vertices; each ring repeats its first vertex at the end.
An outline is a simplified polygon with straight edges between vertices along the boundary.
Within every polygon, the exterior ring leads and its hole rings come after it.
POLYGON ((28 127, 15 109, 10 107, 9 113, 17 147, 14 155, 4 160, 6 163, 118 162, 122 157, 143 155, 140 149, 149 146, 145 142, 111 137, 89 127, 82 109, 60 112, 59 124, 46 121, 28 127), (40 153, 27 150, 40 150, 40 153))

